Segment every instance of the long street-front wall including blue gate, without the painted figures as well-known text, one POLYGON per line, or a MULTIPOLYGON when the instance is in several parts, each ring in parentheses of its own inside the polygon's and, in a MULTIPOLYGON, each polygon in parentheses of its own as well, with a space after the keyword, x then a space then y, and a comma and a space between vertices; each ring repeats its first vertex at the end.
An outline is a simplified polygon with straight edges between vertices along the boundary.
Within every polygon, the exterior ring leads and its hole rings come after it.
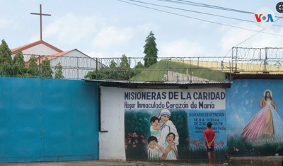
POLYGON ((217 158, 283 153, 281 80, 236 80, 229 89, 100 86, 100 113, 97 83, 2 77, 0 85, 0 162, 148 160, 150 119, 163 108, 178 131, 179 159, 207 158, 202 132, 208 121, 217 158), (250 122, 261 117, 258 123, 265 123, 268 109, 259 102, 266 91, 277 108, 270 109, 270 134, 250 122))

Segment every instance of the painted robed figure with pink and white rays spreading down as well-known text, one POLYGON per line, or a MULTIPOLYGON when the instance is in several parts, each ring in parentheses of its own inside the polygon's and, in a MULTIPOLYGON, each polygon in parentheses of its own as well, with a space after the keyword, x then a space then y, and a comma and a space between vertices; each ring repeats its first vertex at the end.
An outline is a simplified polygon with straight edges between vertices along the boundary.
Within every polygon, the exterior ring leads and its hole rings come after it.
POLYGON ((255 140, 262 134, 267 134, 275 138, 283 138, 283 121, 277 114, 277 105, 272 99, 272 91, 265 90, 260 100, 260 112, 250 119, 242 132, 242 136, 248 140, 255 140))

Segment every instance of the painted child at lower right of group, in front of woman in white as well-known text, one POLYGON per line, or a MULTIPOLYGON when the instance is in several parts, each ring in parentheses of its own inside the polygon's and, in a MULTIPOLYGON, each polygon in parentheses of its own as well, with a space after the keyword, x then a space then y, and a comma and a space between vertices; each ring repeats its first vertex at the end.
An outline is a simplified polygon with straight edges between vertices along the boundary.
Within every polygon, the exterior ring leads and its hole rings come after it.
POLYGON ((179 158, 177 146, 175 146, 175 134, 169 133, 166 137, 166 143, 163 144, 163 148, 166 153, 163 153, 161 159, 163 160, 177 160, 179 158))

